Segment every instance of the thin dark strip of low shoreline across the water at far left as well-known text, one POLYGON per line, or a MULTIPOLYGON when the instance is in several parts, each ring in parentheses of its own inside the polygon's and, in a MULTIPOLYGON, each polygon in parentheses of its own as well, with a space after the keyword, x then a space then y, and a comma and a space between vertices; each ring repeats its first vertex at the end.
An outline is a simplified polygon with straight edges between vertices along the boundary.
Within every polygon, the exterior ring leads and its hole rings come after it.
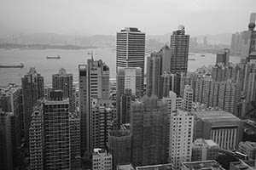
POLYGON ((43 50, 43 49, 88 49, 98 48, 96 46, 75 46, 75 45, 49 45, 49 44, 18 44, 18 43, 0 43, 3 49, 20 49, 20 50, 43 50))

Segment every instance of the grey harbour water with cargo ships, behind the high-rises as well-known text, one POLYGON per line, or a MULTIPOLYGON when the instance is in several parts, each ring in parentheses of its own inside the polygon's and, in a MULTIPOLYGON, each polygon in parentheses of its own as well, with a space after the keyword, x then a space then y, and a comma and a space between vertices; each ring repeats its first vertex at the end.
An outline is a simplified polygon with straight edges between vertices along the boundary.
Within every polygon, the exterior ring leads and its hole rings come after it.
MULTIPOLYGON (((51 86, 52 75, 58 73, 60 68, 65 68, 67 73, 73 73, 73 81, 79 80, 79 65, 86 65, 87 59, 91 58, 93 51, 94 59, 102 59, 110 68, 110 79, 115 79, 115 51, 111 48, 93 48, 82 50, 67 49, 43 49, 43 50, 22 50, 22 49, 0 49, 0 65, 20 65, 20 68, 0 68, 0 87, 7 86, 10 82, 21 84, 23 77, 30 67, 36 67, 38 73, 44 77, 45 86, 51 86), (56 57, 60 55, 61 59, 46 59, 46 56, 56 57)), ((202 65, 214 65, 216 54, 189 55, 189 71, 195 71, 202 65)), ((230 56, 230 62, 238 63, 238 56, 230 56)), ((146 64, 146 61, 145 61, 146 64)), ((145 65, 146 66, 146 65, 145 65)))

